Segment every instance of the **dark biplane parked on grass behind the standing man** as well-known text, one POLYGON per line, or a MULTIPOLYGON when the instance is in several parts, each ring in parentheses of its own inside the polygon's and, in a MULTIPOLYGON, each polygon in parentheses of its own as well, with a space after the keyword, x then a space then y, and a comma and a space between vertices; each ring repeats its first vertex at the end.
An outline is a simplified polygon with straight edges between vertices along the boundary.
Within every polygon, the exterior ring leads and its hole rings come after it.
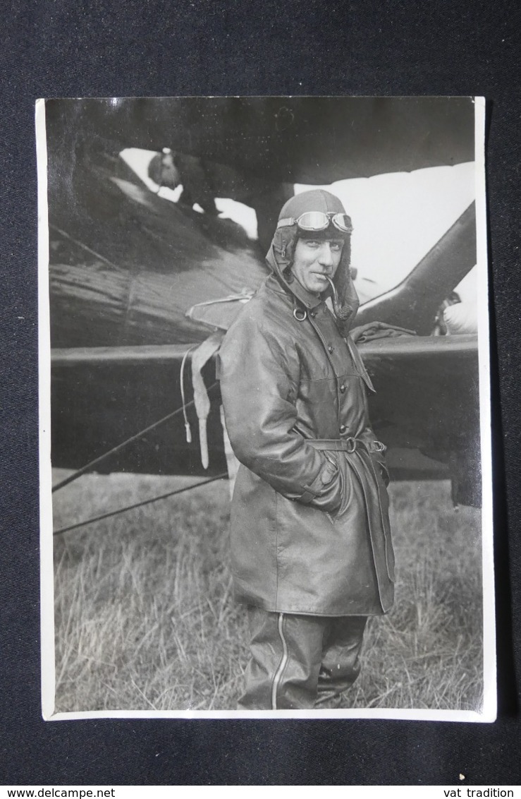
MULTIPOLYGON (((226 471, 215 356, 202 369, 206 468, 188 365, 266 276, 262 248, 294 184, 474 160, 469 97, 53 100, 45 126, 52 462, 102 473, 226 471), (180 200, 151 191, 126 148, 156 153, 150 176, 158 189, 182 185, 180 200), (259 242, 219 219, 216 197, 255 210, 259 242)), ((478 505, 477 336, 432 335, 475 264, 469 205, 404 280, 361 304, 357 324, 416 333, 360 347, 392 479, 450 478, 456 503, 478 505)))

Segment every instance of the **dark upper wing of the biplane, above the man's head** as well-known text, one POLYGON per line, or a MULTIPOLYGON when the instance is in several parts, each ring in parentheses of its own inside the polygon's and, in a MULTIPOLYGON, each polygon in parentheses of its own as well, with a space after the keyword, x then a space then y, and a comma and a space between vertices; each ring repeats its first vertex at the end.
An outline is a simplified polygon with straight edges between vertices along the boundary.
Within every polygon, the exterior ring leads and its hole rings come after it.
POLYGON ((349 177, 474 160, 472 97, 139 97, 49 100, 49 161, 98 145, 203 157, 266 180, 349 177))

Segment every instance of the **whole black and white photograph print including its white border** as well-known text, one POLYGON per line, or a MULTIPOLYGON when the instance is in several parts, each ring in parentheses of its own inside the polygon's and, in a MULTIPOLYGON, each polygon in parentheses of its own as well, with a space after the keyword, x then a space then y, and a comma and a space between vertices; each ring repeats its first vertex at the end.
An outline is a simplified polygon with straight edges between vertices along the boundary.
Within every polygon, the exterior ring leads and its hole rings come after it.
POLYGON ((36 129, 44 718, 494 721, 483 98, 36 129))

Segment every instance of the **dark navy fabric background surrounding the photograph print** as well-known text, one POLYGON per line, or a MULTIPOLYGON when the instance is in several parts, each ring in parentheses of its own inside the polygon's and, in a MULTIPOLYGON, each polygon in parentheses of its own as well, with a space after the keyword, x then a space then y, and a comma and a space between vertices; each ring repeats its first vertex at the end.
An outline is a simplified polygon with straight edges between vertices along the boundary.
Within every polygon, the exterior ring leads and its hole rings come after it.
POLYGON ((516 784, 521 602, 519 11, 501 2, 11 0, 2 7, 2 784, 516 784), (499 718, 69 721, 40 713, 37 97, 483 94, 499 718), (22 317, 22 318, 21 318, 22 317))

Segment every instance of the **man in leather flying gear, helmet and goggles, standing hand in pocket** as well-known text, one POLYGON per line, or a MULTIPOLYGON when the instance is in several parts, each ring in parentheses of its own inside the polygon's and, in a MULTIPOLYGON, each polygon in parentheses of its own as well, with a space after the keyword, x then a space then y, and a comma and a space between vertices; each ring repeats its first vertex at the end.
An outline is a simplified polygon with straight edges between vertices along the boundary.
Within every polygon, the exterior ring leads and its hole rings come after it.
POLYGON ((340 706, 360 671, 367 617, 393 604, 385 447, 369 425, 373 385, 349 336, 358 306, 351 231, 329 192, 286 202, 271 274, 220 352, 242 464, 231 557, 251 627, 245 710, 340 706))

